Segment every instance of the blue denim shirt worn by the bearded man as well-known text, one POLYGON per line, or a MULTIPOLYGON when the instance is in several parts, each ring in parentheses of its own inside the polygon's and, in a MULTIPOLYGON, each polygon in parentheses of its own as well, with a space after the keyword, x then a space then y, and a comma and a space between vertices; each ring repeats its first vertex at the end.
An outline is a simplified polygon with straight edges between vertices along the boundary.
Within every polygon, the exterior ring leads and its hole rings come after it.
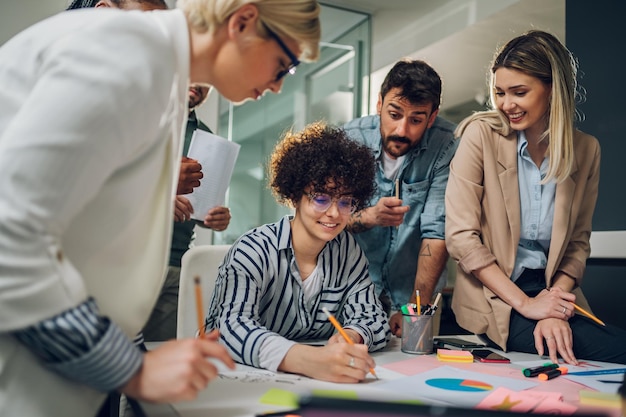
MULTIPOLYGON (((355 233, 359 245, 370 262, 370 276, 377 294, 384 290, 391 298, 391 308, 399 310, 413 292, 417 258, 422 239, 445 237, 445 191, 450 161, 458 146, 454 139, 456 125, 437 117, 422 141, 406 154, 398 171, 400 198, 410 210, 398 227, 373 227, 355 233)), ((344 126, 348 135, 374 152, 377 190, 369 206, 381 197, 395 195, 395 180, 385 178, 382 166, 380 117, 365 116, 344 126)), ((435 291, 445 285, 442 274, 435 291)))

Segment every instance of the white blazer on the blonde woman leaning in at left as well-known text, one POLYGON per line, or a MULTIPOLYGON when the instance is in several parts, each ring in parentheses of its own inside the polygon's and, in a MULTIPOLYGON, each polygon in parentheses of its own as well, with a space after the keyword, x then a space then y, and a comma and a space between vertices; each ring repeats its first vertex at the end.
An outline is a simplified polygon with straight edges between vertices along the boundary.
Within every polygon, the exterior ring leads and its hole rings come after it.
POLYGON ((94 297, 133 337, 161 289, 187 117, 178 10, 60 13, 0 48, 0 416, 104 399, 11 331, 94 297))

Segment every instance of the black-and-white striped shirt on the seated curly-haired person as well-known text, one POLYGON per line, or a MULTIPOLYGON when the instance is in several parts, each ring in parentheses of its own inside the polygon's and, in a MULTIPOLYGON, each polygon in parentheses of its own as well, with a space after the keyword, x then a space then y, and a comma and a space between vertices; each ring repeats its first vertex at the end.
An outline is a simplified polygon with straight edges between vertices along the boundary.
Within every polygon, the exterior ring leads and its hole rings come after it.
POLYGON ((236 361, 275 371, 297 342, 328 339, 342 326, 363 337, 370 351, 390 338, 387 316, 370 280, 367 259, 345 230, 317 258, 321 285, 305 297, 291 242, 290 216, 244 234, 219 268, 206 319, 219 328, 236 361))

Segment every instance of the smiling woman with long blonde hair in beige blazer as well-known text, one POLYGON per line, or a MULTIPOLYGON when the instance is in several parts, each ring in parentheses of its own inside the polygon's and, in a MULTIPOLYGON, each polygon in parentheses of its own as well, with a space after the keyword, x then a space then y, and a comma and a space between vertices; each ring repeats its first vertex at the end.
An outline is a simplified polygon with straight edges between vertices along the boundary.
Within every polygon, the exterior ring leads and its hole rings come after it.
POLYGON ((458 262, 452 308, 503 350, 626 362, 626 332, 574 315, 589 256, 600 146, 574 127, 576 65, 531 31, 491 67, 494 110, 459 125, 446 190, 446 244, 458 262))

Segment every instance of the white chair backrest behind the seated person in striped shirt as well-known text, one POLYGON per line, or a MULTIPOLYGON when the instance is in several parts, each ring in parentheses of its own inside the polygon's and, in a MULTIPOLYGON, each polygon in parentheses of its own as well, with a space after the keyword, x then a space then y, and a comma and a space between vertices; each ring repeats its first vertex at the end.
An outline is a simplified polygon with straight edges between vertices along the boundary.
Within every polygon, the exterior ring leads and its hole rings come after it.
POLYGON ((198 245, 183 255, 178 287, 178 318, 176 338, 195 337, 198 332, 198 315, 194 277, 200 277, 202 286, 202 311, 206 314, 215 288, 217 270, 231 245, 198 245))

